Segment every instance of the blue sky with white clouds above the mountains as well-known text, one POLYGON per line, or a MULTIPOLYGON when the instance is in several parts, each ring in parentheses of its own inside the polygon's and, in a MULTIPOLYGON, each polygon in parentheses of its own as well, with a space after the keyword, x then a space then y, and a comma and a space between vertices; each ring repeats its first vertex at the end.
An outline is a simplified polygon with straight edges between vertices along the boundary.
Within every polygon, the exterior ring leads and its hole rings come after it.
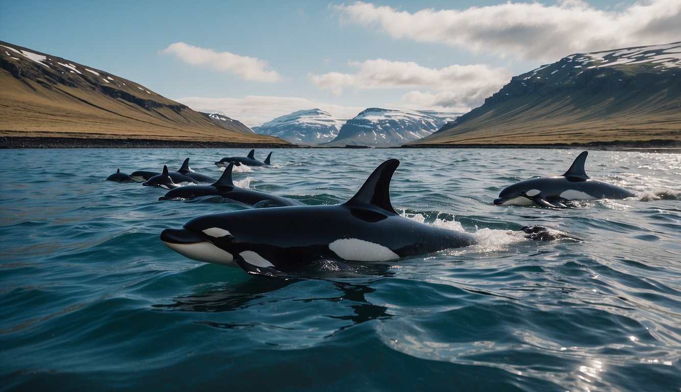
POLYGON ((681 41, 681 0, 0 0, 0 40, 254 127, 465 113, 570 54, 681 41))

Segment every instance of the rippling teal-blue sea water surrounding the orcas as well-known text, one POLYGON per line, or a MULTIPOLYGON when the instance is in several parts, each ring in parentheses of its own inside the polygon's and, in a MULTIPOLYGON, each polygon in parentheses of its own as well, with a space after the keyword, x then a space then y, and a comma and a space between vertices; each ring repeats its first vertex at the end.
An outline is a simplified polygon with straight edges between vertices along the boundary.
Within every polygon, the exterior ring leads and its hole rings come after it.
POLYGON ((247 152, 0 150, 0 390, 680 391, 681 154, 590 151, 591 178, 637 197, 554 210, 492 200, 580 150, 274 150, 235 182, 341 203, 397 158, 398 212, 481 241, 288 279, 159 240, 244 206, 105 180, 187 157, 217 178, 247 152))

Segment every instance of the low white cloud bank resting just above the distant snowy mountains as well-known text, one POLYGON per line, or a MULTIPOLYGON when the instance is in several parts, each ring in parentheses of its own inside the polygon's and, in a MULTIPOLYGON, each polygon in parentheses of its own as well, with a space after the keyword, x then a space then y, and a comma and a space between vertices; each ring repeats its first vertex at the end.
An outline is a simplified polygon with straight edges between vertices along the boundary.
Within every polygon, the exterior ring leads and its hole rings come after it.
POLYGON ((220 113, 239 120, 249 127, 256 127, 273 118, 291 114, 297 110, 319 108, 333 116, 353 118, 366 108, 334 105, 298 97, 266 97, 248 95, 242 98, 186 97, 174 99, 193 110, 204 113, 220 113))

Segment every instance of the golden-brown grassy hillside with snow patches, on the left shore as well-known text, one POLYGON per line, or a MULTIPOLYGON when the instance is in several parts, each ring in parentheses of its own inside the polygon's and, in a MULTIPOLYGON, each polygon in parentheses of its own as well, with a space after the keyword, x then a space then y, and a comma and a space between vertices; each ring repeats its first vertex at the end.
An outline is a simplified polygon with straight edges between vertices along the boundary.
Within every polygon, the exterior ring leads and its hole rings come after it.
POLYGON ((0 42, 0 137, 75 137, 287 145, 215 122, 150 89, 88 67, 0 42))

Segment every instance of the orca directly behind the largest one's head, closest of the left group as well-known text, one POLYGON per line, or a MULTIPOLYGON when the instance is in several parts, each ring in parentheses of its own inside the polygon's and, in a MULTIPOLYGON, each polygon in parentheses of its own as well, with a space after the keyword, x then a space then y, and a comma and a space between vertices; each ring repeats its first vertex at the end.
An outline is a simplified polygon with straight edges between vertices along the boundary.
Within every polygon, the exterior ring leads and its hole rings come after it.
POLYGON ((210 185, 187 185, 179 188, 170 189, 168 193, 159 197, 159 200, 190 200, 197 197, 220 196, 224 199, 236 201, 247 206, 255 207, 281 207, 281 206, 300 206, 302 203, 287 199, 271 193, 244 189, 234 185, 232 181, 232 168, 234 162, 223 171, 222 176, 210 185))

